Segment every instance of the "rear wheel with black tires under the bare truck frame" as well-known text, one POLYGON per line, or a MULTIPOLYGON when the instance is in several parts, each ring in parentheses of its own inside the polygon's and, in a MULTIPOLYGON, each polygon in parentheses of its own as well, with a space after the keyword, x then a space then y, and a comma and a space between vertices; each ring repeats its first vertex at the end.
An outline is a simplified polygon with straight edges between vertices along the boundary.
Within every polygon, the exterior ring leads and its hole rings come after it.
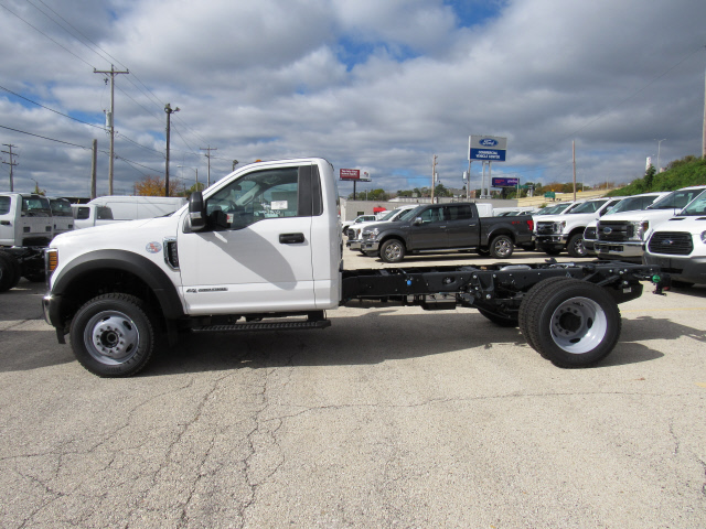
POLYGON ((521 306, 521 331, 532 347, 559 367, 590 366, 608 356, 621 328, 612 296, 577 279, 543 283, 521 306))

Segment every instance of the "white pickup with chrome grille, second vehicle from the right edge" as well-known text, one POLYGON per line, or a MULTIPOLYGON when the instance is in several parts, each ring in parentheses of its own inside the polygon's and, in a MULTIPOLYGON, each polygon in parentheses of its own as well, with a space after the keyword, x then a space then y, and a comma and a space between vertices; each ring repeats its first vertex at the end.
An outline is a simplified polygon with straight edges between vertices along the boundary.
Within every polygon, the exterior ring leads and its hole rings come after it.
POLYGON ((600 259, 642 262, 644 244, 655 226, 676 215, 704 191, 706 185, 684 187, 655 201, 644 210, 601 218, 596 226, 597 256, 600 259))

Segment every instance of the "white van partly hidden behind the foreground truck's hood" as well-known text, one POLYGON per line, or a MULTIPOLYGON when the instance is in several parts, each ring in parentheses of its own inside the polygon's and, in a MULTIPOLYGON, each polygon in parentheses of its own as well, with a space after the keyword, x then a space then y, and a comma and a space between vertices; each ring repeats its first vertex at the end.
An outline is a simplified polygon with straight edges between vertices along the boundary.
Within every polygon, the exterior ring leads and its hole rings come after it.
POLYGON ((75 229, 135 220, 138 218, 161 217, 174 213, 186 204, 179 196, 100 196, 88 204, 73 204, 75 229))

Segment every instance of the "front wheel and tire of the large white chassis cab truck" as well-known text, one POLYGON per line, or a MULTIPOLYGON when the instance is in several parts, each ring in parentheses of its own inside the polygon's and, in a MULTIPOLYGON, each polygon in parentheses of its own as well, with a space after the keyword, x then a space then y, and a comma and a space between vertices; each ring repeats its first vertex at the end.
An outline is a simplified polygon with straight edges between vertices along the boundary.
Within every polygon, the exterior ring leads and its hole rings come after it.
POLYGON ((84 304, 71 325, 76 359, 99 377, 128 377, 145 368, 156 348, 156 325, 141 300, 104 294, 84 304))

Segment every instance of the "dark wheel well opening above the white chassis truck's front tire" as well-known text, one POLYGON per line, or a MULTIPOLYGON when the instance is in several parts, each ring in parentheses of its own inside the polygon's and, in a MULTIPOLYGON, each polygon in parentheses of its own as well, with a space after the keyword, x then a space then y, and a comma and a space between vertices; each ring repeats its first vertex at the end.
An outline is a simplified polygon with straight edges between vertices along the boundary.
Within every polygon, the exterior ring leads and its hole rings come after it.
MULTIPOLYGON (((62 293, 61 321, 66 328, 84 303, 101 294, 131 294, 145 302, 153 314, 161 314, 159 300, 154 291, 138 276, 119 269, 97 269, 74 278, 62 293)), ((165 320, 160 317, 162 325, 165 320)))

